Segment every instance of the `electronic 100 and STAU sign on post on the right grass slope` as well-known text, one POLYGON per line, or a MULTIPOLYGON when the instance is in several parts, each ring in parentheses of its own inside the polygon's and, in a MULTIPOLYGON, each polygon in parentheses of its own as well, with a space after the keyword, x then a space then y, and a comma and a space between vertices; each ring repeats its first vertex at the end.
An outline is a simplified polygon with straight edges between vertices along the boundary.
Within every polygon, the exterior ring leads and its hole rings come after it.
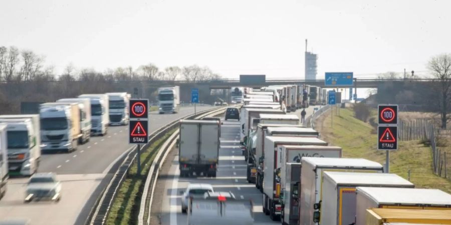
POLYGON ((377 149, 385 150, 385 172, 390 171, 390 150, 398 149, 398 105, 378 105, 377 149))

